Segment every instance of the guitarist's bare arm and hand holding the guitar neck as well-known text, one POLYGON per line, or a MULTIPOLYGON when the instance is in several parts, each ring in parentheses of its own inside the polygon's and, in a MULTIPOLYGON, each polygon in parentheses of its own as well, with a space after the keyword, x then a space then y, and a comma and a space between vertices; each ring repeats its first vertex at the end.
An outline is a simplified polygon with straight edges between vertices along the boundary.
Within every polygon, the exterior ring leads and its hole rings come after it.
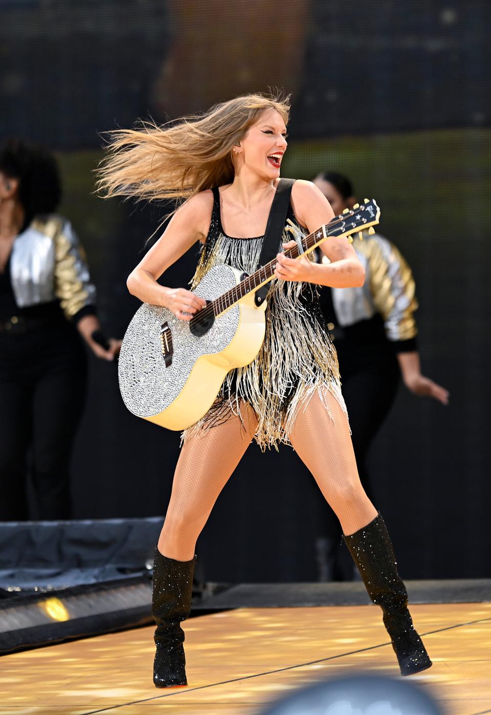
MULTIPOLYGON (((309 232, 329 223, 334 212, 326 197, 312 182, 297 181, 293 184, 292 204, 295 216, 309 232)), ((290 247, 294 243, 286 246, 290 247)), ((359 262, 354 248, 346 237, 331 237, 321 244, 330 263, 312 263, 305 257, 293 260, 278 254, 275 275, 282 280, 302 280, 333 288, 363 285, 364 267, 359 262)))

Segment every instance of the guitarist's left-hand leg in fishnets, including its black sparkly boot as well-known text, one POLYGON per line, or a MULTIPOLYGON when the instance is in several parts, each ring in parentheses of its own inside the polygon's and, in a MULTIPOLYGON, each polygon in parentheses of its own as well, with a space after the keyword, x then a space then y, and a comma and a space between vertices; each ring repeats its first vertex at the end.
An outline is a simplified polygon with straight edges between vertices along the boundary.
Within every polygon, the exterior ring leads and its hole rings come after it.
POLYGON ((154 559, 154 684, 158 688, 187 685, 180 623, 191 611, 194 547, 257 429, 252 408, 244 405, 241 411, 242 420, 232 416, 222 425, 188 435, 177 461, 154 559))

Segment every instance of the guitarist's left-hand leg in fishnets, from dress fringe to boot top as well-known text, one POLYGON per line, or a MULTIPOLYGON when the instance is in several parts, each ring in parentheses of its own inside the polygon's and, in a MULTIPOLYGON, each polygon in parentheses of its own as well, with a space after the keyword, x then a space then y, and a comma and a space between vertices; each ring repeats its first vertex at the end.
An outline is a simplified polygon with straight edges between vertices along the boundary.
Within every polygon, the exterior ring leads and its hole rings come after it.
POLYGON ((189 437, 182 446, 172 494, 159 538, 159 551, 189 561, 219 493, 249 446, 257 428, 252 408, 243 405, 242 421, 229 418, 217 427, 189 437))

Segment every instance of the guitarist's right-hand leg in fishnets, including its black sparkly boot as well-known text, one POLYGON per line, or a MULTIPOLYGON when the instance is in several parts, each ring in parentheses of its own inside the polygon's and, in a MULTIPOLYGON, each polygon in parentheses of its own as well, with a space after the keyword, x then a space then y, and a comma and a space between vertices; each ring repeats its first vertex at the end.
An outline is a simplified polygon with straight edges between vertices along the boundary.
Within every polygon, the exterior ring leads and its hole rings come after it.
POLYGON ((290 440, 339 518, 368 595, 382 608, 401 674, 419 673, 432 661, 413 626, 389 533, 359 481, 344 413, 333 395, 325 398, 333 419, 316 393, 299 413, 290 440))

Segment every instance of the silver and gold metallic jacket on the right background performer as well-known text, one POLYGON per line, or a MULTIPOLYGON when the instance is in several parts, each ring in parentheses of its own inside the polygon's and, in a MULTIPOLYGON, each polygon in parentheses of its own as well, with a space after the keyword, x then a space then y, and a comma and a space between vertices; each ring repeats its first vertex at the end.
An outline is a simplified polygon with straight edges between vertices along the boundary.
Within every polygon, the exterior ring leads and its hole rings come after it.
MULTIPOLYGON (((365 270, 362 287, 332 288, 334 312, 341 327, 380 313, 389 340, 410 340, 417 335, 414 317, 418 304, 415 281, 407 262, 387 238, 363 232, 352 246, 365 270)), ((328 262, 325 256, 322 262, 328 262)))

